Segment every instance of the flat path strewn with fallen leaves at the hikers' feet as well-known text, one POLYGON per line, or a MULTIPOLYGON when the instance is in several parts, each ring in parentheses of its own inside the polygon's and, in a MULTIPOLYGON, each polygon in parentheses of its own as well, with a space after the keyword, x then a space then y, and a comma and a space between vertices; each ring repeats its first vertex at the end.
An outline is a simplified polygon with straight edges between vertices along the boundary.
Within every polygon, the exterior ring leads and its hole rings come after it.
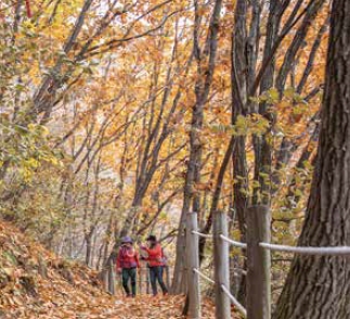
MULTIPOLYGON (((178 319, 181 316, 184 298, 182 296, 137 298, 90 297, 81 298, 81 304, 69 302, 40 305, 14 306, 11 310, 0 310, 1 319, 178 319), (10 311, 9 311, 10 310, 10 311)), ((203 307, 204 319, 215 318, 213 306, 206 303, 203 307)))

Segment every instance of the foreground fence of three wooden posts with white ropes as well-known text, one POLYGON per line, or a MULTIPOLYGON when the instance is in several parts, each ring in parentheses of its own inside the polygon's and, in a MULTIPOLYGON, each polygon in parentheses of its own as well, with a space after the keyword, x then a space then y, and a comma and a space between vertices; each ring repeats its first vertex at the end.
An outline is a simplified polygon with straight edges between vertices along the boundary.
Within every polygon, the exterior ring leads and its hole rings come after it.
POLYGON ((217 212, 212 224, 212 234, 200 233, 197 229, 197 214, 187 216, 186 256, 189 284, 189 318, 200 318, 199 278, 215 285, 216 318, 231 319, 231 303, 247 319, 271 319, 271 252, 285 252, 299 255, 342 256, 350 255, 349 246, 314 247, 271 244, 271 217, 267 206, 249 207, 247 218, 247 243, 228 237, 228 218, 217 212), (215 279, 199 270, 199 238, 212 239, 215 279), (234 269, 235 273, 246 276, 246 308, 230 291, 230 245, 246 250, 247 270, 234 269))

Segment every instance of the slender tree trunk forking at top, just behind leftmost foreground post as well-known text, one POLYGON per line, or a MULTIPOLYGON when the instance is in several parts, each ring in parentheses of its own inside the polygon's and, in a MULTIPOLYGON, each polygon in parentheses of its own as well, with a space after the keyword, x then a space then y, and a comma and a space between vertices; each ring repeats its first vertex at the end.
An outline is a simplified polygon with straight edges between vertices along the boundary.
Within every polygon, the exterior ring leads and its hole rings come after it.
MULTIPOLYGON (((205 4, 202 4, 205 5, 205 4)), ((190 213, 191 205, 193 209, 199 209, 199 194, 195 192, 195 183, 200 178, 202 167, 202 128, 204 119, 204 106, 207 103, 213 71, 216 65, 216 55, 218 47, 218 33, 220 23, 221 12, 221 0, 216 0, 212 9, 209 25, 209 37, 206 40, 205 48, 202 49, 199 46, 199 31, 202 16, 199 9, 202 7, 199 1, 194 1, 195 8, 195 25, 194 25, 194 39, 193 39, 193 52, 197 63, 197 80, 195 85, 196 103, 192 111, 191 132, 190 132, 190 160, 187 163, 186 179, 184 186, 184 200, 181 213, 181 220, 179 226, 179 234, 177 241, 177 258, 176 268, 172 282, 172 292, 180 293, 185 292, 184 290, 184 256, 185 256, 185 235, 184 227, 186 215, 190 213)), ((198 212, 197 212, 198 213, 198 212)), ((187 305, 187 303, 186 303, 187 305)), ((186 312, 186 306, 184 308, 186 312)))

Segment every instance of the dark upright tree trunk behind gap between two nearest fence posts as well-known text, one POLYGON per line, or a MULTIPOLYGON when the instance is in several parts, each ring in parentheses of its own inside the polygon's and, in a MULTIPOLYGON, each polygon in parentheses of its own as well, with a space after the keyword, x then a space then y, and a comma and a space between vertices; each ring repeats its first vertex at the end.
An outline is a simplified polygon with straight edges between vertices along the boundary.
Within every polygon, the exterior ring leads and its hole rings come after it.
MULTIPOLYGON (((249 87, 249 73, 247 69, 255 66, 255 50, 248 50, 247 34, 247 8, 245 0, 236 2, 234 16, 234 31, 232 36, 232 63, 231 63, 231 82, 232 82, 232 124, 235 125, 238 116, 246 116, 247 110, 247 88, 249 87), (248 54, 248 56, 247 56, 248 54), (251 65, 249 66, 248 63, 251 65)), ((257 3, 252 3, 257 5, 257 3)), ((251 22, 252 23, 252 22, 251 22)), ((252 23, 254 24, 254 23, 252 23)), ((255 28, 252 26, 252 28, 255 28)), ((256 37, 257 33, 250 30, 250 37, 256 37)), ((256 40, 255 40, 256 41, 256 40)), ((235 150, 232 154, 233 177, 236 180, 233 186, 234 209, 237 216, 242 242, 246 242, 246 218, 245 210, 248 203, 248 169, 246 161, 246 137, 235 137, 235 150)), ((245 253, 245 252, 244 252, 245 253)), ((246 266, 246 265, 244 265, 246 266)), ((239 282, 238 302, 246 305, 246 278, 243 276, 239 282)))

